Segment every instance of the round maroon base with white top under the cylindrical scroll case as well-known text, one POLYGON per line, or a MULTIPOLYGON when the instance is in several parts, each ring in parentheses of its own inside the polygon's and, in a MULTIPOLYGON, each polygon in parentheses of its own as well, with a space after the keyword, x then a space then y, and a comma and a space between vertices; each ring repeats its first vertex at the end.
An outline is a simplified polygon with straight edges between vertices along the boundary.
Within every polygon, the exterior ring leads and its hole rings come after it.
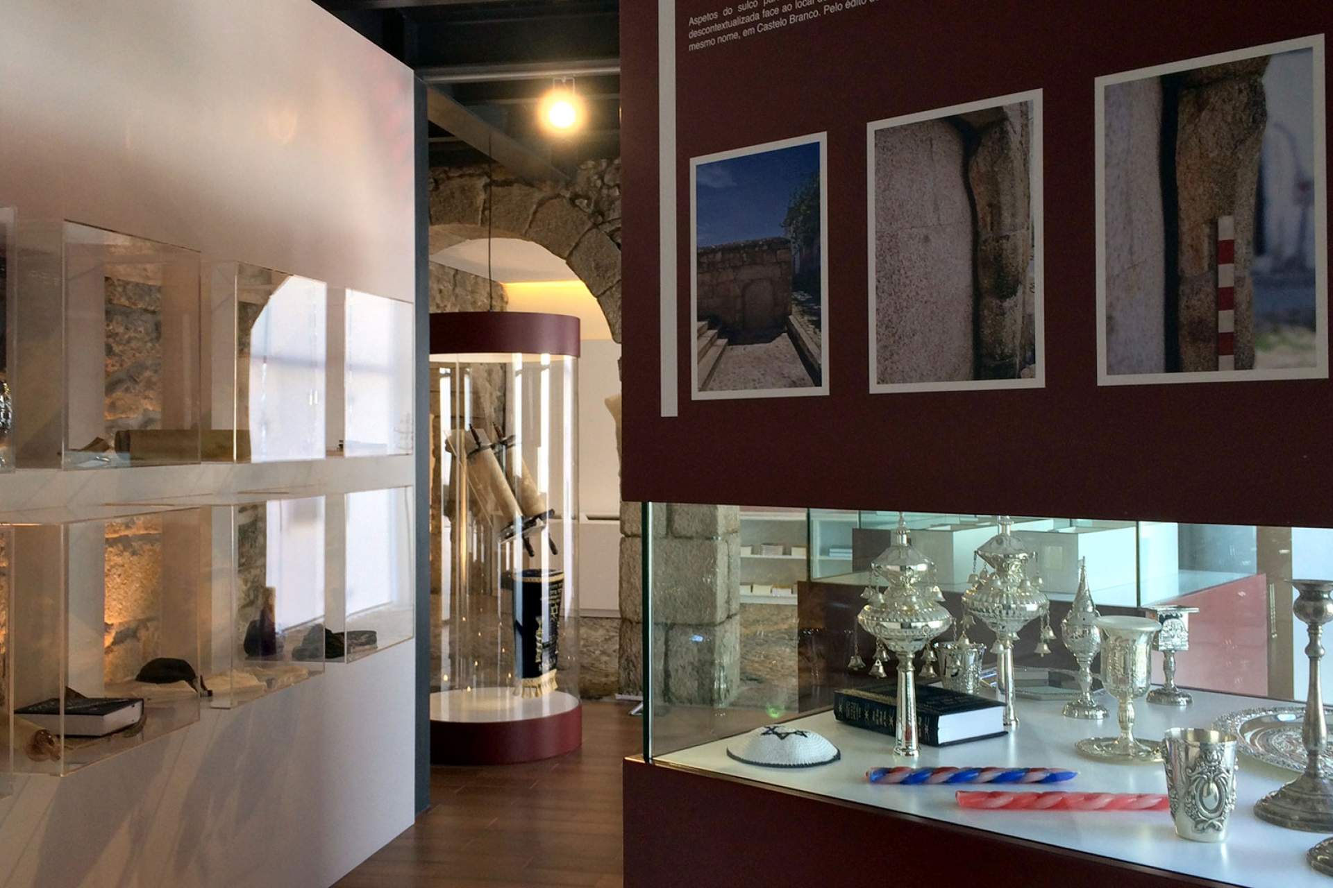
POLYGON ((517 764, 581 744, 583 707, 565 691, 535 699, 508 687, 431 695, 431 764, 517 764))

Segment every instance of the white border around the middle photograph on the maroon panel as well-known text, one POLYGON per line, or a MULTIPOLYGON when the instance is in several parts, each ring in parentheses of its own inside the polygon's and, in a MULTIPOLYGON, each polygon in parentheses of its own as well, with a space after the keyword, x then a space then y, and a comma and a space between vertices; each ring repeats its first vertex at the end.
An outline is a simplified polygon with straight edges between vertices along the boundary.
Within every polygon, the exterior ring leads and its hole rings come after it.
POLYGON ((1009 93, 932 108, 910 114, 872 120, 865 125, 865 224, 866 224, 866 304, 869 310, 869 385, 870 394, 900 391, 960 391, 986 389, 1044 389, 1046 386, 1046 330, 1045 330, 1045 210, 1042 198, 1042 108, 1041 89, 1009 93), (929 120, 938 120, 973 111, 985 111, 1000 105, 1032 103, 1032 133, 1028 150, 1028 200, 1032 202, 1032 266, 1033 266, 1033 326, 1036 334, 1036 363, 1030 378, 1018 379, 949 379, 938 382, 880 382, 878 381, 878 337, 876 334, 877 280, 874 258, 874 134, 881 129, 906 126, 929 120))

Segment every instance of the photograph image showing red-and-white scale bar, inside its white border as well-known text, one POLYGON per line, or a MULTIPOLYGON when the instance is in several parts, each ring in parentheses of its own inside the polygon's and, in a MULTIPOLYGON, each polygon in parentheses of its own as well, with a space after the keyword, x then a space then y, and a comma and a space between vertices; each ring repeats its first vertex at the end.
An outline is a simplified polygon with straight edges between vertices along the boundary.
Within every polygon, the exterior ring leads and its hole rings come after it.
POLYGON ((1110 83, 1102 97, 1105 373, 1313 373, 1326 335, 1313 51, 1110 83))

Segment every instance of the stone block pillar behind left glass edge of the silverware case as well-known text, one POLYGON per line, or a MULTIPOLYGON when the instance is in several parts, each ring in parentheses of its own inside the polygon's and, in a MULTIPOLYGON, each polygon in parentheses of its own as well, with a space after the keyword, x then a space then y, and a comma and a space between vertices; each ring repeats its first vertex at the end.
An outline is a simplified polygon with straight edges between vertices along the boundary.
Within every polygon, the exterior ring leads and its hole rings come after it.
MULTIPOLYGON (((643 522, 620 511, 620 691, 643 692, 643 522)), ((740 509, 653 509, 653 680, 659 702, 725 706, 740 691, 740 509)))

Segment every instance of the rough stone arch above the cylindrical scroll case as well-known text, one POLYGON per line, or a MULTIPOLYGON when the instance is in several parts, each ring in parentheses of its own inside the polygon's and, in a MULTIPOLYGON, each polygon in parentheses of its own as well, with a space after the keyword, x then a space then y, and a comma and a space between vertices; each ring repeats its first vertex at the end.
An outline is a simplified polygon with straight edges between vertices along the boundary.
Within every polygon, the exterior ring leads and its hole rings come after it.
MULTIPOLYGON (((604 168, 597 184, 609 182, 611 170, 613 220, 593 208, 595 198, 573 194, 572 189, 531 185, 503 170, 492 177, 485 168, 441 170, 431 181, 431 253, 487 237, 539 244, 564 260, 588 286, 607 317, 612 339, 620 342, 619 162, 604 168)), ((583 173, 575 188, 585 184, 583 173)))

